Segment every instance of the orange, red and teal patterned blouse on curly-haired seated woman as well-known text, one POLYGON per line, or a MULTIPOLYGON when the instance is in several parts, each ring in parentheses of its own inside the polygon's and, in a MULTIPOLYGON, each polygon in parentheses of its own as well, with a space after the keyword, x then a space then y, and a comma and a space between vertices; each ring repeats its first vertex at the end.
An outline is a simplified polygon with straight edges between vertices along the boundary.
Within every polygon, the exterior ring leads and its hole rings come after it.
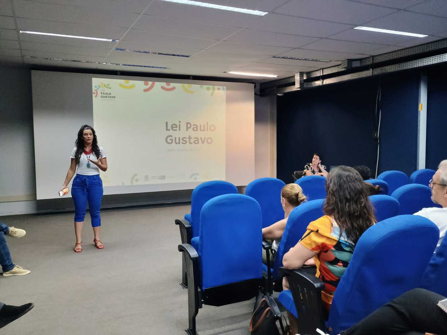
POLYGON ((317 252, 314 257, 315 276, 325 284, 321 298, 329 310, 335 289, 352 258, 354 245, 346 239, 345 234, 340 235, 340 228, 327 215, 309 223, 299 242, 317 252))

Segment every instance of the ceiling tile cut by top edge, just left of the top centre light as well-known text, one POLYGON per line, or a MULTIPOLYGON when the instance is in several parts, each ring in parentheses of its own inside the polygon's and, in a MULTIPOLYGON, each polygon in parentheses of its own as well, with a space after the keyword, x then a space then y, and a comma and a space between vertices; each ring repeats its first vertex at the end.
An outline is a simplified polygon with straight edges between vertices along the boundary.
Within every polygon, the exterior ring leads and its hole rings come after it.
POLYGON ((115 10, 119 12, 141 13, 148 0, 33 0, 35 2, 63 4, 79 7, 115 10))

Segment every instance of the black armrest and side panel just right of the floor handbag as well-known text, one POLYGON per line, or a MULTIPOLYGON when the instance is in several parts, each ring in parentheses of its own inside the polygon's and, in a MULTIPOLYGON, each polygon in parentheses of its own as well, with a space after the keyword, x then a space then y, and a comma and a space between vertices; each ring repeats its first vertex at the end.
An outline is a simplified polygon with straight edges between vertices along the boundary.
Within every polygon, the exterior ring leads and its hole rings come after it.
POLYGON ((278 269, 282 276, 287 276, 298 314, 298 329, 302 334, 313 334, 316 328, 325 329, 325 312, 321 300, 321 291, 325 288, 309 268, 287 270, 278 269))

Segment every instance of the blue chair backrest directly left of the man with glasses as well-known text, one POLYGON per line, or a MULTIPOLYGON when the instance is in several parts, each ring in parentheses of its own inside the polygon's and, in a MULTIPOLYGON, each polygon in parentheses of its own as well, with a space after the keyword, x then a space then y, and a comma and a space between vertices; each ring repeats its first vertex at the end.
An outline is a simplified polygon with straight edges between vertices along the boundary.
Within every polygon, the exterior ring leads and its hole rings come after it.
POLYGON ((397 188, 391 195, 401 204, 402 214, 414 214, 422 208, 440 207, 431 201, 431 189, 421 184, 407 184, 397 188))

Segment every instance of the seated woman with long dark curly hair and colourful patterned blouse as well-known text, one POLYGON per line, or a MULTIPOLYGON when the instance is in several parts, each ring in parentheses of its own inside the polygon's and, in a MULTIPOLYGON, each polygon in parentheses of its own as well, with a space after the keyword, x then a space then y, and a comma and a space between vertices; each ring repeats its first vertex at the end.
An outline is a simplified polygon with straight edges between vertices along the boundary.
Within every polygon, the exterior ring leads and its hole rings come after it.
MULTIPOLYGON (((355 244, 376 219, 363 179, 352 167, 333 169, 326 180, 326 192, 325 216, 309 223, 301 240, 284 255, 283 266, 297 269, 314 263, 316 276, 325 284, 322 302, 329 310, 355 244)), ((289 289, 287 277, 283 289, 289 289)), ((299 333, 295 317, 288 316, 292 334, 299 333)))

